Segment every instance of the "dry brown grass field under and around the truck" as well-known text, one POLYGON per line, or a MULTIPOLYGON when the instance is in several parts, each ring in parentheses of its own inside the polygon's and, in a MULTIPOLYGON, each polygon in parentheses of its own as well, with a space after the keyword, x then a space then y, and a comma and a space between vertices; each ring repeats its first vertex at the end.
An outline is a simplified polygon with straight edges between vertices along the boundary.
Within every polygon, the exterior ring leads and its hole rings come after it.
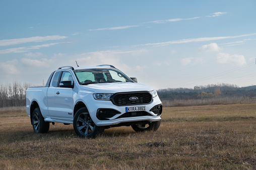
POLYGON ((24 109, 0 110, 0 169, 255 169, 256 104, 164 107, 157 131, 73 125, 35 134, 24 109))

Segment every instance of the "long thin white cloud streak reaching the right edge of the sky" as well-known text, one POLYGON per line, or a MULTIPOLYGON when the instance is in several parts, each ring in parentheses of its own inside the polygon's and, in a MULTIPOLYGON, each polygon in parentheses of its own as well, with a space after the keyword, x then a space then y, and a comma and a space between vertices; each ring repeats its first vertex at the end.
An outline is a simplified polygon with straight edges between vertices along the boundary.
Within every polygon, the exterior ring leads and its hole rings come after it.
POLYGON ((193 43, 193 42, 204 42, 204 41, 216 41, 216 40, 224 40, 224 39, 234 39, 239 37, 248 37, 254 36, 256 33, 252 34, 244 34, 239 36, 227 36, 227 37, 204 37, 204 38, 195 38, 195 39, 183 39, 183 40, 176 40, 176 41, 168 41, 163 43, 148 43, 148 44, 140 44, 137 46, 159 46, 159 45, 168 45, 168 44, 183 44, 183 43, 193 43))

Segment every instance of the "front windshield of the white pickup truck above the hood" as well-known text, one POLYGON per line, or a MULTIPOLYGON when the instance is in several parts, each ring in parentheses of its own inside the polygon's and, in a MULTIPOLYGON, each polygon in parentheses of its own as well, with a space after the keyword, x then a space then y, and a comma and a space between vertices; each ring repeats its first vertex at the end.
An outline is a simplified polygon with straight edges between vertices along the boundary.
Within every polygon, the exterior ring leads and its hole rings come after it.
POLYGON ((84 69, 74 70, 82 85, 95 83, 132 82, 129 77, 116 69, 84 69))

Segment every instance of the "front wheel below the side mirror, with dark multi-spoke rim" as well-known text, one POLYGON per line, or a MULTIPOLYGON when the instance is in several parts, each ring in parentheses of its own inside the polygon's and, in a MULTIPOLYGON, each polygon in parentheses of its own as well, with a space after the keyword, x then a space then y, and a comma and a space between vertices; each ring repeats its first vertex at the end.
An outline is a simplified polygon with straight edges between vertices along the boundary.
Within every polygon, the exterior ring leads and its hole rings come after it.
POLYGON ((82 107, 76 112, 73 120, 73 127, 78 136, 87 138, 95 138, 96 136, 101 135, 105 130, 104 126, 97 126, 93 122, 85 107, 82 107))

